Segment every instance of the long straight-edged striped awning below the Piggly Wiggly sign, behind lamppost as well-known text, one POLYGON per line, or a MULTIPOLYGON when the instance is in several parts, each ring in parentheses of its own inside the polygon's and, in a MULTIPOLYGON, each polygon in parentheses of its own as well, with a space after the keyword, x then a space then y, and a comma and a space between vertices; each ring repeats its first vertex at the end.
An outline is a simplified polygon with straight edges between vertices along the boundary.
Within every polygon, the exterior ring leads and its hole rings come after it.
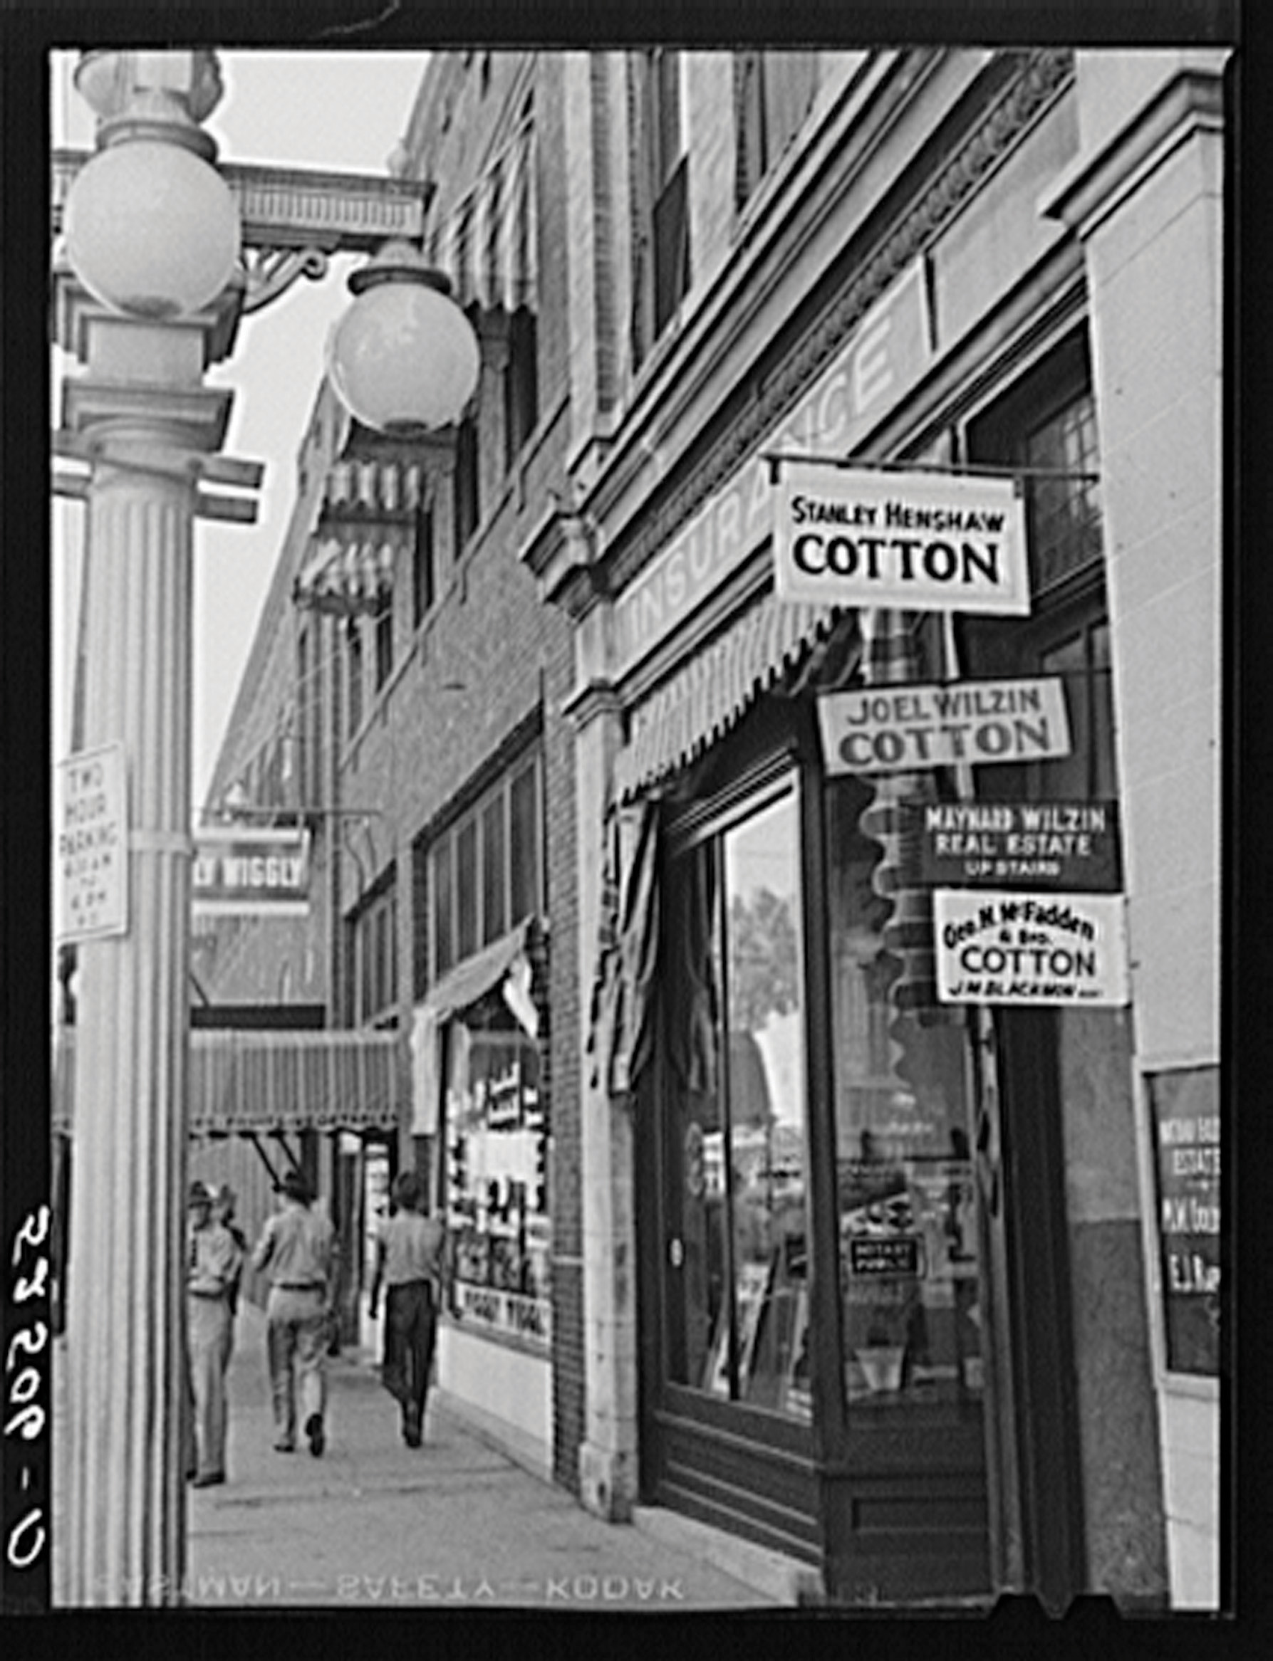
MULTIPOLYGON (((53 1129, 75 1111, 75 1028, 58 1030, 53 1129)), ((410 1051, 396 1031, 189 1035, 193 1136, 394 1129, 410 1116, 410 1051)))

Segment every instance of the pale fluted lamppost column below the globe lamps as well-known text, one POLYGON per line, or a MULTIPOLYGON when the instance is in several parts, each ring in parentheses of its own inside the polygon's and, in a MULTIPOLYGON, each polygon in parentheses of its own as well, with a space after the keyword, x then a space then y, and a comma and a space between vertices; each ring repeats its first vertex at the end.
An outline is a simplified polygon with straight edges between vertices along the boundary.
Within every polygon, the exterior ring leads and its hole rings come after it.
POLYGON ((66 1442, 66 1605, 171 1605, 184 1575, 191 540, 229 394, 203 331, 90 316, 68 382, 86 492, 83 747, 123 746, 128 927, 80 943, 66 1442))

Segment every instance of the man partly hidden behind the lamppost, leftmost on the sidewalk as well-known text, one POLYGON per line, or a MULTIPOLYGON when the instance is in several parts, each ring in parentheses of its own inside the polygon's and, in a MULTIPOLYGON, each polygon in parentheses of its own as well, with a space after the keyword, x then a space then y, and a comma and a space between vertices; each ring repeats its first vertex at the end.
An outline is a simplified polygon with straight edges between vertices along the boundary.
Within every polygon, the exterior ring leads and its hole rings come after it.
POLYGON ((186 1252, 186 1364, 193 1407, 194 1447, 188 1468, 194 1488, 226 1480, 226 1365, 233 1340, 229 1289, 238 1282, 243 1254, 224 1224, 213 1218, 206 1183, 189 1189, 186 1252))

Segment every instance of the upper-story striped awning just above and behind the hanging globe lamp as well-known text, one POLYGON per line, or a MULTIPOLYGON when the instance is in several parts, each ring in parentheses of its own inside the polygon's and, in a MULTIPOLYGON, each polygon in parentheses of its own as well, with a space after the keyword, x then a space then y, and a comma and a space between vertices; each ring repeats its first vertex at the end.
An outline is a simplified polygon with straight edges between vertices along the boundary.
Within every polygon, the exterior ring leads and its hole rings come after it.
POLYGON ((424 252, 464 306, 535 307, 535 125, 523 121, 477 184, 425 233, 424 252))

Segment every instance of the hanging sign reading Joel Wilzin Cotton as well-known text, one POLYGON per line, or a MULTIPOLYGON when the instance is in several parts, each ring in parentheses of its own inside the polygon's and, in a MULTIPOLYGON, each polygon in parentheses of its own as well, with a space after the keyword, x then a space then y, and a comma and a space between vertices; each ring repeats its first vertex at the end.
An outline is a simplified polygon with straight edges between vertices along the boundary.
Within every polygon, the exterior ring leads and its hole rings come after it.
POLYGON ((869 686, 818 699, 826 771, 911 772, 1070 752, 1060 676, 869 686))

